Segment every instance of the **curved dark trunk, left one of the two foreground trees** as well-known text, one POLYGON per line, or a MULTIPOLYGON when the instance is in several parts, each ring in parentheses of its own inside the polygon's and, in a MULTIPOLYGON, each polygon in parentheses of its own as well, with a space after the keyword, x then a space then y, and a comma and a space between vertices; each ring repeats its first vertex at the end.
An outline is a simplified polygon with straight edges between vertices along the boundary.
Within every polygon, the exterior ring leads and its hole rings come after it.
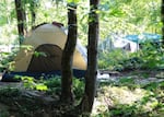
POLYGON ((77 5, 68 3, 68 39, 61 60, 61 102, 72 103, 72 59, 77 45, 77 5))

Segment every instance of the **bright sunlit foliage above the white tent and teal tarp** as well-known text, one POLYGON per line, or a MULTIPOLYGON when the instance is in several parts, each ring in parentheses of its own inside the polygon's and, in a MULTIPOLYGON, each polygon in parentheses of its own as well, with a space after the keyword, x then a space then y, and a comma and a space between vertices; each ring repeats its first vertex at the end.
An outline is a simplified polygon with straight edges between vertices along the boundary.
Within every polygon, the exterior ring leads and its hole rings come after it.
POLYGON ((101 38, 117 32, 161 33, 160 8, 159 0, 103 0, 99 7, 101 38))

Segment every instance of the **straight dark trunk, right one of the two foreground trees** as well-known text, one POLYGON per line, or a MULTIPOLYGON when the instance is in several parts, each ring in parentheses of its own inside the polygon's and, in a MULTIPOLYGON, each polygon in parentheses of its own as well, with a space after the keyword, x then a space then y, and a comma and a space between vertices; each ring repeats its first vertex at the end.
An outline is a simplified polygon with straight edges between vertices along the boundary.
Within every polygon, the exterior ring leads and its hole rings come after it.
POLYGON ((94 103, 97 74, 97 42, 98 42, 98 8, 99 0, 90 0, 89 15, 89 45, 87 45, 87 71, 85 78, 85 92, 80 104, 82 113, 90 116, 94 103))

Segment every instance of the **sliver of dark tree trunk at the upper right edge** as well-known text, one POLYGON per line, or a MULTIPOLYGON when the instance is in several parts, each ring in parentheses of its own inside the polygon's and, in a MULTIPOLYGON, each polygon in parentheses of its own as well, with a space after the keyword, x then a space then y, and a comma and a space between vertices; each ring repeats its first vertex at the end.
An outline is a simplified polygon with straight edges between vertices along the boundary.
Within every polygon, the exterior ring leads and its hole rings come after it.
POLYGON ((162 0, 161 5, 161 20, 162 20, 162 46, 164 47, 164 0, 162 0))

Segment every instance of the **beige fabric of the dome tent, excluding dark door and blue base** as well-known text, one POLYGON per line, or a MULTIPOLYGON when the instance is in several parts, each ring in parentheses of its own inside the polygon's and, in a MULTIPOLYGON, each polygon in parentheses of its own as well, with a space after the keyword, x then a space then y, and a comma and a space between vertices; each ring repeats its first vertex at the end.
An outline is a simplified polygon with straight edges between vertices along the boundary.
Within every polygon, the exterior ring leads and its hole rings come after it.
MULTIPOLYGON (((31 63, 32 57, 36 48, 40 45, 56 45, 61 50, 65 48, 65 44, 67 42, 67 34, 60 27, 55 26, 52 24, 45 24, 37 27, 33 31, 32 35, 30 35, 23 45, 31 45, 32 49, 26 50, 26 48, 22 49, 16 58, 15 58, 15 71, 26 71, 28 69, 28 65, 31 63), (22 58, 23 57, 23 58, 22 58)), ((79 45, 77 45, 77 48, 79 45)), ((84 49, 84 48, 83 48, 84 49)), ((73 68, 74 69, 86 69, 86 54, 85 57, 82 56, 82 49, 75 49, 73 55, 73 68)), ((85 51, 84 51, 85 52, 85 51)), ((55 54, 55 52, 54 52, 55 54)), ((58 59, 60 61, 60 59, 58 59)), ((59 69, 58 69, 59 70, 59 69)))

